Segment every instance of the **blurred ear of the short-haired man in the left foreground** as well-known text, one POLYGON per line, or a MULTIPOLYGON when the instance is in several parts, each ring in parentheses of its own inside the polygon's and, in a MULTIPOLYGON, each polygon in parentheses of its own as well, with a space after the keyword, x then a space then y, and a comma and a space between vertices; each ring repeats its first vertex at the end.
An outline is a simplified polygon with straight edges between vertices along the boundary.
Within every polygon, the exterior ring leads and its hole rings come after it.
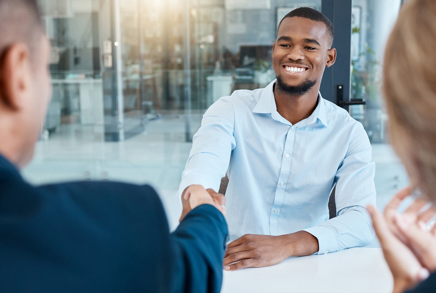
POLYGON ((29 48, 24 43, 9 46, 0 58, 0 101, 11 110, 19 110, 27 103, 31 64, 29 48))

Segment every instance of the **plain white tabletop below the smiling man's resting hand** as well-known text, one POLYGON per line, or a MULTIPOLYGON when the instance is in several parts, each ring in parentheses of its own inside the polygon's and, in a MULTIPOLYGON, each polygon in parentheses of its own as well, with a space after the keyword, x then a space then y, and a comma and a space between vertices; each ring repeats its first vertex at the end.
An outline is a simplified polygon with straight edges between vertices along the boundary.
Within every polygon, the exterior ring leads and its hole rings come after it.
POLYGON ((381 248, 349 248, 224 271, 221 293, 391 293, 392 286, 381 248))

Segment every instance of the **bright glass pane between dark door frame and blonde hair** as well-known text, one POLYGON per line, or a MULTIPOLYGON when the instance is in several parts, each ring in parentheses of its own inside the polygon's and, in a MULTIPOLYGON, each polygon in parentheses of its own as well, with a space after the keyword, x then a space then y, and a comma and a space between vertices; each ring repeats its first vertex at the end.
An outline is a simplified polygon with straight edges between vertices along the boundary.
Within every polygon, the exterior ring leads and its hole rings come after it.
POLYGON ((385 43, 400 9, 400 0, 353 0, 351 7, 351 105, 349 111, 360 121, 371 141, 376 163, 375 186, 380 209, 408 184, 406 172, 389 145, 383 106, 381 73, 385 43))

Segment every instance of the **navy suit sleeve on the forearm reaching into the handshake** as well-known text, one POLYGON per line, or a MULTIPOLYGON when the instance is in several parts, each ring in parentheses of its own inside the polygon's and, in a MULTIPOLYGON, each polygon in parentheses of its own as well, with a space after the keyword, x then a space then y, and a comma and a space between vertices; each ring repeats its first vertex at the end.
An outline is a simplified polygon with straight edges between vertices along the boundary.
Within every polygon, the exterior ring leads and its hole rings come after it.
POLYGON ((177 251, 173 292, 219 293, 227 224, 219 210, 209 204, 196 207, 171 234, 177 251), (180 287, 180 284, 184 284, 180 287))

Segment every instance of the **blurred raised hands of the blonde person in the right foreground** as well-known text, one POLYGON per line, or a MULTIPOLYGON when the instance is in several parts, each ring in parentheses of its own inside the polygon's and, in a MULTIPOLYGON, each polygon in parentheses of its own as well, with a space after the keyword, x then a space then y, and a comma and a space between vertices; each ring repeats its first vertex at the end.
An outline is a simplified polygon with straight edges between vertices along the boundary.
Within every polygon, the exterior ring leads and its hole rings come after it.
POLYGON ((436 228, 430 231, 426 223, 435 215, 435 208, 426 200, 416 199, 403 214, 397 209, 411 194, 409 187, 399 191, 386 205, 383 215, 368 207, 375 233, 380 240, 386 262, 394 279, 394 293, 404 292, 436 271, 436 228))

